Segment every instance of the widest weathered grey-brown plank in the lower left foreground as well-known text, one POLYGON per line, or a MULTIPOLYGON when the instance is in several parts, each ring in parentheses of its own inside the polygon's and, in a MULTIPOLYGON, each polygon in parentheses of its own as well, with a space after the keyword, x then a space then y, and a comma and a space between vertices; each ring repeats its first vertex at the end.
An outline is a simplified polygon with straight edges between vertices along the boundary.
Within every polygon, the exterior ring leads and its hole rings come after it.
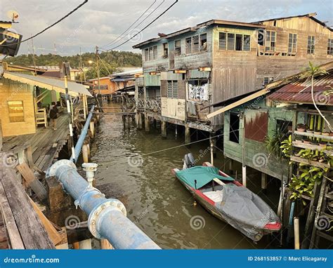
POLYGON ((14 170, 6 169, 6 174, 1 177, 2 185, 18 226, 23 244, 26 249, 54 249, 44 226, 41 224, 37 213, 27 198, 24 189, 17 181, 14 170))

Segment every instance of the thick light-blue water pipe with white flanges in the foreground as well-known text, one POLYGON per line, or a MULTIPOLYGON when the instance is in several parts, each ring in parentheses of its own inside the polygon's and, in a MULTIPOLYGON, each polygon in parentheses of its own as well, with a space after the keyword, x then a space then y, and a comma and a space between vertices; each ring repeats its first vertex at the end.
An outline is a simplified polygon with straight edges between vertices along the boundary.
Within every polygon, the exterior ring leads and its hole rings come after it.
POLYGON ((160 249, 128 217, 123 203, 106 199, 98 189, 84 180, 72 161, 57 161, 48 169, 46 177, 55 176, 63 189, 89 215, 89 231, 97 239, 107 239, 116 249, 160 249))

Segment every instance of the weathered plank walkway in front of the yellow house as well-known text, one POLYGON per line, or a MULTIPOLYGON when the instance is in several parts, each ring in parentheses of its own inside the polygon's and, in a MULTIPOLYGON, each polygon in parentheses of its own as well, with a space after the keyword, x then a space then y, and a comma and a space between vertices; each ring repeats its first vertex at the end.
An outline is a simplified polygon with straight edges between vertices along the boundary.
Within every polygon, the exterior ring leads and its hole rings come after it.
POLYGON ((67 142, 69 136, 67 119, 67 114, 59 116, 57 130, 51 127, 39 127, 36 134, 4 138, 3 151, 10 152, 17 147, 30 145, 34 166, 46 171, 67 142))

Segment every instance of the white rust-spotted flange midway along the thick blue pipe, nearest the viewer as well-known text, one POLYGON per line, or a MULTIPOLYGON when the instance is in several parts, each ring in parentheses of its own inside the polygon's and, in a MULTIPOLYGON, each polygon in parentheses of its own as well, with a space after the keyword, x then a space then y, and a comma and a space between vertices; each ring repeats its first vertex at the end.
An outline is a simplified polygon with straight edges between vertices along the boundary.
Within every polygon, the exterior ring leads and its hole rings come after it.
POLYGON ((97 239, 103 239, 103 236, 101 236, 101 234, 97 230, 97 222, 100 215, 103 214, 103 210, 106 210, 107 208, 111 208, 112 210, 118 210, 126 217, 126 208, 124 204, 117 199, 107 199, 96 208, 93 208, 89 215, 88 228, 91 234, 93 234, 93 236, 95 236, 97 239))

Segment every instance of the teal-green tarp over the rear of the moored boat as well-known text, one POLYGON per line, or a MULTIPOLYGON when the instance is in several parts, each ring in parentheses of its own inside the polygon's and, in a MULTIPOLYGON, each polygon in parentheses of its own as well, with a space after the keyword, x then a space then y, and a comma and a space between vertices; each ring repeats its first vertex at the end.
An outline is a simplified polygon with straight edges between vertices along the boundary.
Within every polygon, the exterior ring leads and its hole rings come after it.
POLYGON ((187 168, 176 172, 177 177, 195 188, 195 180, 197 180, 197 189, 207 185, 208 182, 218 178, 220 180, 234 180, 232 177, 223 177, 218 175, 218 168, 210 166, 195 166, 193 168, 187 168))

